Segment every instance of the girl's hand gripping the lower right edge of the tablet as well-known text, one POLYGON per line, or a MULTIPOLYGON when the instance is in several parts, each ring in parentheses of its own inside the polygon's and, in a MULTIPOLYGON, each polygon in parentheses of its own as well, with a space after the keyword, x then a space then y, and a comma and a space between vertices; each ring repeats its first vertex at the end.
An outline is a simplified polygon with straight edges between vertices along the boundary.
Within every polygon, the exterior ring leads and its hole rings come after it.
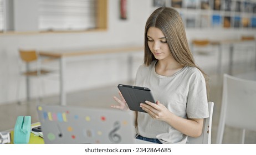
POLYGON ((152 103, 150 101, 145 101, 145 103, 141 103, 140 107, 145 110, 149 115, 155 120, 165 121, 170 118, 171 112, 164 106, 160 104, 160 101, 156 101, 156 103, 152 103))

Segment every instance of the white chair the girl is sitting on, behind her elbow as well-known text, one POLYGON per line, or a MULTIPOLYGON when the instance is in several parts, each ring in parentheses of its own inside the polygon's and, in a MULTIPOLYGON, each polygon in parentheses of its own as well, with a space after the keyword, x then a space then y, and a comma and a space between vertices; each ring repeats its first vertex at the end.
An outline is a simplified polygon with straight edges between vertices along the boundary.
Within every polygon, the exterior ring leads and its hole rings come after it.
POLYGON ((190 143, 190 144, 211 144, 213 106, 214 106, 213 102, 208 102, 209 117, 204 118, 204 120, 203 120, 202 135, 197 138, 188 137, 188 143, 190 143))

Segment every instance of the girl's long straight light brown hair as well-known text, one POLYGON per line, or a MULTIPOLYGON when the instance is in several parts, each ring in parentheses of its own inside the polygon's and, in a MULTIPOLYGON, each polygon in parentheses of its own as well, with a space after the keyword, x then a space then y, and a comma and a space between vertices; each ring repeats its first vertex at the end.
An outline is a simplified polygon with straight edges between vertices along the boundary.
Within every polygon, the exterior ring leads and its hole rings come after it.
MULTIPOLYGON (((199 69, 206 80, 207 94, 209 89, 209 78, 194 62, 193 55, 188 46, 185 27, 180 14, 173 8, 157 8, 147 19, 144 34, 144 64, 149 66, 155 56, 150 51, 147 44, 147 31, 150 27, 158 28, 166 37, 167 44, 170 48, 173 58, 182 66, 191 66, 199 69)), ((208 96, 208 95, 207 95, 208 96)))

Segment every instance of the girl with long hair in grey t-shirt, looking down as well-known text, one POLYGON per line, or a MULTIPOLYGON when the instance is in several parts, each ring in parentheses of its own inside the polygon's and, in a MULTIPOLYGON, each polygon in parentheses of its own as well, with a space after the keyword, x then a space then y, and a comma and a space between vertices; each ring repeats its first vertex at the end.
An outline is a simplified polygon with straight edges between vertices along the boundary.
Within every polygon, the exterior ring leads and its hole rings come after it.
MULTIPOLYGON (((157 8, 145 27, 144 64, 135 85, 149 87, 156 103, 145 101, 136 112, 137 138, 155 143, 186 143, 187 136, 202 133, 209 117, 207 75, 194 63, 180 14, 173 8, 157 8)), ((114 96, 120 110, 129 110, 124 97, 114 96)))

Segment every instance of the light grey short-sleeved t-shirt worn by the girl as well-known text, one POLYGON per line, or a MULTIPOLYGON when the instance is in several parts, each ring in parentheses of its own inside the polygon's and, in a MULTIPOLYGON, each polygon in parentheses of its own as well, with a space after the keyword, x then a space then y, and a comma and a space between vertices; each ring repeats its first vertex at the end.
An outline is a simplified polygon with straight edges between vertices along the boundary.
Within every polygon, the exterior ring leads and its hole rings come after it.
MULTIPOLYGON (((201 71, 185 66, 172 76, 156 74, 153 61, 137 70, 136 86, 149 87, 155 100, 183 118, 207 118, 206 83, 201 71)), ((148 113, 138 112, 136 132, 147 138, 158 138, 162 143, 186 143, 187 136, 166 122, 153 120, 148 113)))

